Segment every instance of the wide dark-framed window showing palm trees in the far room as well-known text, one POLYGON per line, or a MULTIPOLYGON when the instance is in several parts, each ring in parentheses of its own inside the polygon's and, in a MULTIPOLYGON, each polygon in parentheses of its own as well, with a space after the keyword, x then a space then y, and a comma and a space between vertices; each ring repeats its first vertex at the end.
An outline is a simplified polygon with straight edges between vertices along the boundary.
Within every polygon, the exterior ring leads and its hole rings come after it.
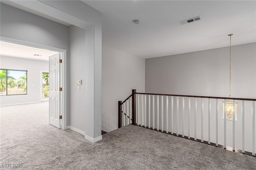
POLYGON ((0 69, 0 96, 27 94, 27 72, 0 69))

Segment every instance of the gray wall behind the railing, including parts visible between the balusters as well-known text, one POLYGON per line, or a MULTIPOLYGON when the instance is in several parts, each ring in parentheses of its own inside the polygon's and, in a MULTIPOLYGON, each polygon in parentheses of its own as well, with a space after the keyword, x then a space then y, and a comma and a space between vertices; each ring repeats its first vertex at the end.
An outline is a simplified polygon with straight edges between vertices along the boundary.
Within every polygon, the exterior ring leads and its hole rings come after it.
MULTIPOLYGON (((232 46, 231 96, 235 98, 256 98, 256 43, 232 46)), ((229 96, 229 47, 146 59, 145 91, 147 93, 179 94, 195 96, 229 96)), ((156 98, 156 97, 155 97, 156 98)), ((151 99, 152 100, 152 99, 151 99)), ((156 99, 155 99, 156 101, 156 99)), ((160 98, 161 102, 161 98, 160 98)), ((242 149, 242 103, 238 102, 238 121, 236 125, 236 148, 242 149)), ((160 105, 161 106, 161 105, 160 105)), ((188 106, 188 98, 185 98, 188 106)), ((195 100, 191 99, 190 135, 194 137, 195 100)), ((215 142, 216 110, 215 100, 211 100, 210 139, 215 142)), ((224 121, 222 119, 222 100, 218 100, 218 138, 224 145, 224 121)), ((152 108, 152 107, 151 107, 152 108)), ((164 98, 164 122, 165 115, 164 98)), ((169 109, 171 102, 169 98, 169 109)), ((182 129, 182 99, 179 98, 179 133, 182 129)), ((152 113, 152 110, 151 110, 152 113)), ((155 106, 156 113, 156 106, 155 106)), ((184 134, 188 135, 188 107, 184 111, 184 134)), ((197 139, 201 139, 201 99, 197 99, 197 139)), ((169 110, 169 130, 172 125, 169 110)), ((155 115, 155 120, 156 120, 155 115)), ((161 108, 160 108, 160 120, 161 108)), ((151 125, 152 125, 151 118, 151 125)), ((226 121, 227 146, 232 147, 232 121, 226 121)), ((161 121, 160 121, 161 127, 161 121)), ((174 97, 174 133, 177 131, 176 97, 174 97)), ((164 130, 166 126, 164 123, 164 130)), ((208 141, 208 100, 204 100, 203 139, 208 141)), ((252 104, 245 102, 245 150, 252 151, 252 104)))

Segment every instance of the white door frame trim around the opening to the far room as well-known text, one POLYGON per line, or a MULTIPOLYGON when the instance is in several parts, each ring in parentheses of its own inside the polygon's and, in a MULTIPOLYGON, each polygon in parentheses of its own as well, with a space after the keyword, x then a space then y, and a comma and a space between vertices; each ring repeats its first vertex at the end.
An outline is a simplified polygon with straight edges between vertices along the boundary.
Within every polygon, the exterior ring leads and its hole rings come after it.
POLYGON ((0 36, 0 40, 8 43, 15 43, 20 45, 26 45, 30 47, 40 48, 40 49, 47 49, 51 51, 57 51, 62 53, 62 67, 60 74, 60 84, 62 84, 62 98, 61 98, 61 107, 60 107, 60 115, 62 115, 62 127, 61 129, 67 129, 67 51, 65 49, 59 49, 55 47, 50 47, 46 45, 40 45, 36 43, 31 43, 27 41, 21 41, 17 39, 7 38, 0 36))

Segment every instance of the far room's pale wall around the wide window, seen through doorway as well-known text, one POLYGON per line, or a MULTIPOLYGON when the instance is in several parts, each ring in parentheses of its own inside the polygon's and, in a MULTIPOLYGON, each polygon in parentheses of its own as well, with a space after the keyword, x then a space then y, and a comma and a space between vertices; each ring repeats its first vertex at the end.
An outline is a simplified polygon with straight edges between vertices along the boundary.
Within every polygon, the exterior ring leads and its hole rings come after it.
POLYGON ((27 94, 14 96, 0 96, 0 106, 40 102, 40 71, 49 70, 48 61, 18 59, 14 57, 4 56, 0 56, 0 61, 0 68, 28 70, 27 94))

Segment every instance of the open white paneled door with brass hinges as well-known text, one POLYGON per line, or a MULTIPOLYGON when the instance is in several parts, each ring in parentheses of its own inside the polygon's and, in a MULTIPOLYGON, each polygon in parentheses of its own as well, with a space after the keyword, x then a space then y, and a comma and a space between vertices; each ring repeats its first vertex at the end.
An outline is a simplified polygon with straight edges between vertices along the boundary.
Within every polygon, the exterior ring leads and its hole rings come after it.
POLYGON ((49 57, 49 123, 61 128, 60 53, 49 57))

